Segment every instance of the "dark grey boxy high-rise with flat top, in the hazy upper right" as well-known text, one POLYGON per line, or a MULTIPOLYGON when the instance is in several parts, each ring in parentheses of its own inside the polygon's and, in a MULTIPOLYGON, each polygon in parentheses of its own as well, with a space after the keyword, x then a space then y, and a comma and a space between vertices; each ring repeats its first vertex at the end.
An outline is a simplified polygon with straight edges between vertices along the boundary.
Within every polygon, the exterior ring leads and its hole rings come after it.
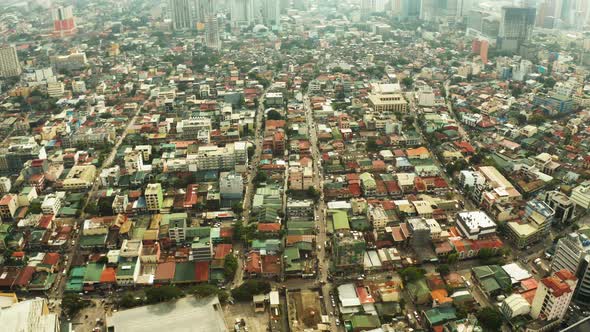
POLYGON ((503 51, 517 52, 530 40, 535 15, 535 8, 502 7, 498 47, 503 51))

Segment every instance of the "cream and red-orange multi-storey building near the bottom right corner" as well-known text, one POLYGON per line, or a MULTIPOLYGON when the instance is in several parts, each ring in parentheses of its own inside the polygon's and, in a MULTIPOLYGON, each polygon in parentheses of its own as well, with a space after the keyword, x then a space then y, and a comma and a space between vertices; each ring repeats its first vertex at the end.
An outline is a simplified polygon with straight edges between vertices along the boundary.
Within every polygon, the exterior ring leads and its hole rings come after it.
POLYGON ((560 270, 541 279, 531 307, 531 316, 543 321, 561 320, 574 295, 578 278, 569 270, 560 270))

